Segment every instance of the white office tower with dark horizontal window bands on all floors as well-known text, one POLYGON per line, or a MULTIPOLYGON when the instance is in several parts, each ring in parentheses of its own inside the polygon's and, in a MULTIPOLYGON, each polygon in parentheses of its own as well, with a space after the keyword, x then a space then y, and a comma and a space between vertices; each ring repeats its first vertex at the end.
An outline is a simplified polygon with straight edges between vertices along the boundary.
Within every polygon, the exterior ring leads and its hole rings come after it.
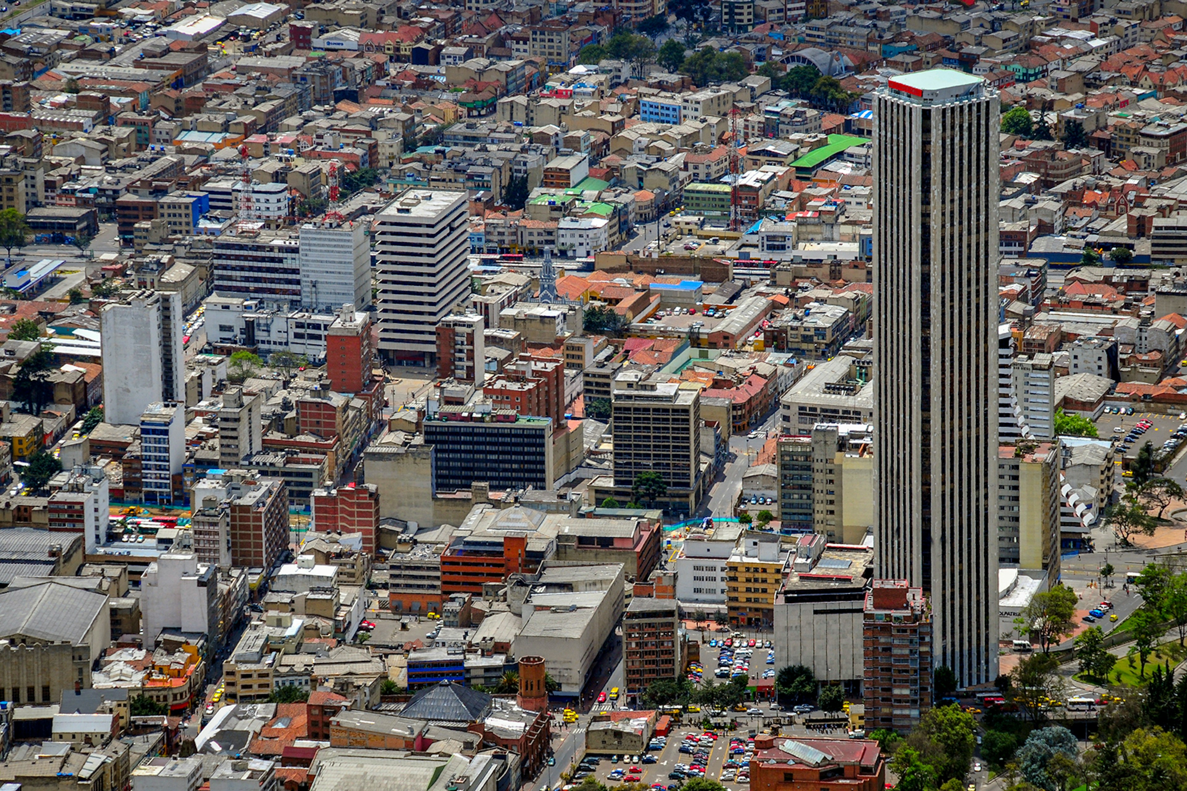
POLYGON ((375 215, 379 352, 432 365, 437 324, 470 293, 465 192, 405 190, 375 215))

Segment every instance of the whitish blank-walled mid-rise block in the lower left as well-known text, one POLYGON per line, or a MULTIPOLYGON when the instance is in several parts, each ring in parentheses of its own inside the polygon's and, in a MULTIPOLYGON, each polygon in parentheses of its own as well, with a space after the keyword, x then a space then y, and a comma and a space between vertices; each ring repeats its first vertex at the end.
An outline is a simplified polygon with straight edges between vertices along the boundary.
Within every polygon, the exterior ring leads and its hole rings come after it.
POLYGON ((140 579, 144 644, 157 648, 163 630, 185 634, 209 634, 217 642, 221 629, 218 569, 198 563, 193 553, 161 555, 140 579))

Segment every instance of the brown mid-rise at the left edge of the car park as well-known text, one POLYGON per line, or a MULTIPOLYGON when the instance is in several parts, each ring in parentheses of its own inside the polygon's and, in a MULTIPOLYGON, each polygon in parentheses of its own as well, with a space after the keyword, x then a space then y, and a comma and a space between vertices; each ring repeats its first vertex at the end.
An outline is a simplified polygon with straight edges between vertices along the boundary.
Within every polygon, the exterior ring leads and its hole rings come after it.
POLYGON ((622 615, 623 681, 636 700, 656 681, 684 676, 684 627, 673 599, 635 597, 622 615))

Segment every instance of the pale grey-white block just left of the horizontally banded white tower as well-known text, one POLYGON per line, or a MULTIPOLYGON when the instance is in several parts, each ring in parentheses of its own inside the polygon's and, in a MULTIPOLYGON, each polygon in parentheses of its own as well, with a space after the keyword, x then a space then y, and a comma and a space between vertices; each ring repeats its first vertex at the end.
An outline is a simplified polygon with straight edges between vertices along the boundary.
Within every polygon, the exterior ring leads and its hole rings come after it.
POLYGON ((370 240, 363 223, 324 218, 300 227, 300 304, 312 311, 370 305, 370 240))

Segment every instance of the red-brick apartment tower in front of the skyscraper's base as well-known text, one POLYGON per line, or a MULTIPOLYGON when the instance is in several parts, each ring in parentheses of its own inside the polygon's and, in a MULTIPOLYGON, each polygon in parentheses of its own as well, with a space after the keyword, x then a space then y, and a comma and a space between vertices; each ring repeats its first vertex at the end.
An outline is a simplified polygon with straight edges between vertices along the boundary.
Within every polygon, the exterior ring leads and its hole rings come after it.
POLYGON ((907 580, 874 580, 862 613, 865 727, 904 733, 932 708, 932 610, 907 580))

